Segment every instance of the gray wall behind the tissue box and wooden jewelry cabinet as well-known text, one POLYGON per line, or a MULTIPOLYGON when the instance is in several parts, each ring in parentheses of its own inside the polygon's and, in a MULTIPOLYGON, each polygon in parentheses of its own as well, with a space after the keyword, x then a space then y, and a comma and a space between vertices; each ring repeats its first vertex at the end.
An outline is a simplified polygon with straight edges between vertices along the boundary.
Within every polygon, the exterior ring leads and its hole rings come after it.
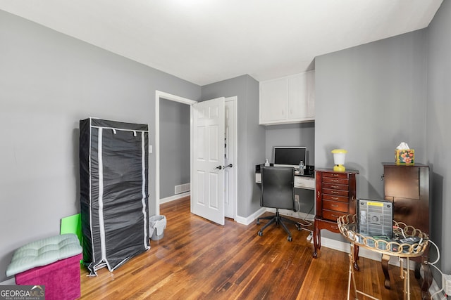
POLYGON ((316 58, 316 168, 333 167, 330 151, 346 149, 345 167, 360 172, 357 197, 383 199, 381 162, 394 161, 400 142, 428 163, 426 56, 419 30, 316 58))

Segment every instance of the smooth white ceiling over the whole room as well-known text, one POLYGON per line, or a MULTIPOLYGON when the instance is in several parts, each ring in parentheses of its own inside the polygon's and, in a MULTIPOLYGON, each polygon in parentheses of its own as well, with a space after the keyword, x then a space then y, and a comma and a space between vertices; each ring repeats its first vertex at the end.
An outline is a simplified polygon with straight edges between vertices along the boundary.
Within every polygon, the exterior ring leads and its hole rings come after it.
POLYGON ((0 9, 205 85, 427 27, 443 0, 0 0, 0 9))

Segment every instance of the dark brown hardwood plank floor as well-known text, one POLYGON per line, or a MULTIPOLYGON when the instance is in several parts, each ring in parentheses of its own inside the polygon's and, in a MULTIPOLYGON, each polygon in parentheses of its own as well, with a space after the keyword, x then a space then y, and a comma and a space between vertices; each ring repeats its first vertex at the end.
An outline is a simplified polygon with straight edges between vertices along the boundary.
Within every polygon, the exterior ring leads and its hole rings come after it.
MULTIPOLYGON (((164 237, 112 273, 88 277, 82 268, 81 299, 346 299, 349 259, 321 248, 313 259, 308 232, 280 226, 259 237, 260 225, 226 220, 225 226, 190 213, 189 197, 161 205, 164 237)), ((392 289, 383 287, 381 263, 359 259, 357 288, 379 299, 402 299, 400 270, 389 267, 392 289)), ((411 299, 421 299, 411 273, 411 299)), ((352 298, 352 296, 351 296, 352 298)), ((359 299, 364 299, 362 295, 359 299)), ((365 298, 367 299, 367 298, 365 298)))

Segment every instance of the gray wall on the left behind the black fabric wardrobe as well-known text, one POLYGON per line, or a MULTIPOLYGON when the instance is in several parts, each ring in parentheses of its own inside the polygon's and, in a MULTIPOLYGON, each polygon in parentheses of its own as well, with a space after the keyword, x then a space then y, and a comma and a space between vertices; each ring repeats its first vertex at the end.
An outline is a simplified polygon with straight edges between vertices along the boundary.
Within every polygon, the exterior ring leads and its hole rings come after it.
MULTIPOLYGON (((80 119, 149 124, 154 145, 155 90, 199 100, 201 87, 4 11, 0 45, 3 281, 14 249, 58 234, 60 219, 80 211, 80 119)), ((150 207, 154 166, 152 154, 150 207)))

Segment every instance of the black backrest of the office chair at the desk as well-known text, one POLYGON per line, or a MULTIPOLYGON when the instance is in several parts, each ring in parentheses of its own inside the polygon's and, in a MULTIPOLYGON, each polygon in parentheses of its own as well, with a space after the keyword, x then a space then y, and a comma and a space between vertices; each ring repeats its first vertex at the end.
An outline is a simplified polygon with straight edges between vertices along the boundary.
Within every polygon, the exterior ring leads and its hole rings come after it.
POLYGON ((291 167, 261 169, 260 205, 295 210, 295 169, 291 167))

